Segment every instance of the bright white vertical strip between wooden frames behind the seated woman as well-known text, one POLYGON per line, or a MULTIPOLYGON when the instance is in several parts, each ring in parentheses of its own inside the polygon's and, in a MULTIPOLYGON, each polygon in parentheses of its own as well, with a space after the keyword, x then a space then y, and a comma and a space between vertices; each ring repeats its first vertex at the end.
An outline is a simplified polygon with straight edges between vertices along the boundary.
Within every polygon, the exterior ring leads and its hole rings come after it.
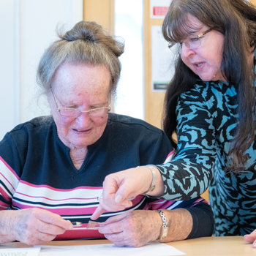
POLYGON ((115 113, 144 119, 143 0, 115 0, 115 34, 125 41, 115 113))

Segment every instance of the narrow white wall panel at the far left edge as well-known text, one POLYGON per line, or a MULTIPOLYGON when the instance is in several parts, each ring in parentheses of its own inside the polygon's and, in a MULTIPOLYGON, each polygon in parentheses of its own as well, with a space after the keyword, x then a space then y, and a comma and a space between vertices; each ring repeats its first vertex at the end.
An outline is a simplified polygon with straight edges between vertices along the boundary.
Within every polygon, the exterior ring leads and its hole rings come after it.
POLYGON ((0 1, 0 140, 19 121, 18 2, 0 1))

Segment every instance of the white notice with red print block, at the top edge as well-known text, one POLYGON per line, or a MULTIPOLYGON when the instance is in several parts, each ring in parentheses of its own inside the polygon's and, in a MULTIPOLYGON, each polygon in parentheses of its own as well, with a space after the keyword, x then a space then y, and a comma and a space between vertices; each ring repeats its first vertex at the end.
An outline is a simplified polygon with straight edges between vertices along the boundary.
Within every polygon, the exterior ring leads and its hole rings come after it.
POLYGON ((150 18, 163 19, 169 9, 171 0, 151 0, 150 1, 150 18))

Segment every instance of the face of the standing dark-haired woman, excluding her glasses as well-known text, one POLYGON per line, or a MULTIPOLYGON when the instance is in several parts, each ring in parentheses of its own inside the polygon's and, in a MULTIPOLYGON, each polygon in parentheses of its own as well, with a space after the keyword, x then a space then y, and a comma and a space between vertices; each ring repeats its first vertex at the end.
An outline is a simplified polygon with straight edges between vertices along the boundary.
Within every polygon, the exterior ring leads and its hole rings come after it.
MULTIPOLYGON (((188 39, 184 40, 185 42, 186 40, 191 42, 197 34, 209 29, 192 15, 189 15, 189 23, 195 28, 201 27, 202 29, 195 31, 195 35, 189 36, 188 39)), ((204 81, 225 80, 220 72, 224 35, 219 31, 211 30, 200 38, 200 43, 200 47, 195 49, 182 46, 181 59, 184 64, 204 81)))

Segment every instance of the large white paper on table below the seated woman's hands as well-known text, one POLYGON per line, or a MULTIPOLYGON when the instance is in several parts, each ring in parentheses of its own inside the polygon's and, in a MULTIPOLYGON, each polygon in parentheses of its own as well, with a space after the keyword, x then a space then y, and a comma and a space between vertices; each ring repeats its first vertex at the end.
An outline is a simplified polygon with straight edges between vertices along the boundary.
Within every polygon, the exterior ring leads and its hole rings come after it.
POLYGON ((114 244, 96 244, 87 246, 41 246, 40 256, 170 256, 185 255, 173 246, 162 243, 148 243, 145 246, 119 247, 114 244))

